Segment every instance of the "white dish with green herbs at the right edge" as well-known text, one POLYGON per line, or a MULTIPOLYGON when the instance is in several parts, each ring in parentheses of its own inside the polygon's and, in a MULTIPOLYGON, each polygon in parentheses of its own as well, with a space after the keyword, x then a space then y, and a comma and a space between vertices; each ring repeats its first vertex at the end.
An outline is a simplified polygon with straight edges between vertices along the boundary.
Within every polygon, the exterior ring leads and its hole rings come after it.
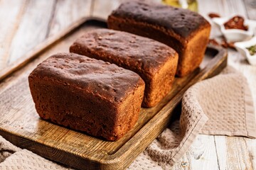
POLYGON ((247 47, 256 45, 256 36, 244 42, 235 42, 234 45, 235 45, 235 49, 238 50, 240 54, 244 55, 251 65, 256 65, 256 54, 250 55, 249 50, 246 49, 247 47))

